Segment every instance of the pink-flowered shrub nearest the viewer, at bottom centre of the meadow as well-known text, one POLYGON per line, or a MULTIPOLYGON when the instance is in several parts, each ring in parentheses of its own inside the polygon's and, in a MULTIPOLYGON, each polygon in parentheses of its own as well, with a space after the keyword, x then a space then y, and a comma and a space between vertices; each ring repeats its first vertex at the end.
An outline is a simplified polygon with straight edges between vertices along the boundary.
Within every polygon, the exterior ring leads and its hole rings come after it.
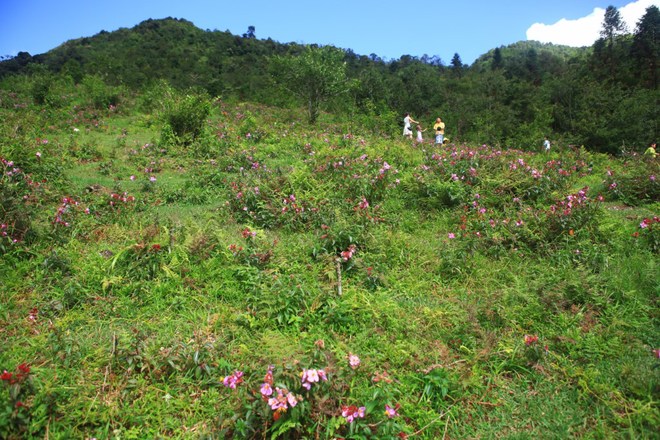
MULTIPOLYGON (((323 347, 322 341, 319 348, 323 347)), ((393 437, 402 434, 402 427, 396 419, 399 417, 401 405, 383 402, 377 396, 383 395, 387 399, 389 393, 382 389, 374 394, 375 400, 365 405, 340 404, 332 394, 340 394, 349 390, 348 380, 354 373, 352 365, 359 365, 359 358, 349 356, 351 367, 347 372, 337 371, 334 377, 329 377, 326 369, 303 368, 298 373, 299 380, 295 380, 294 372, 289 368, 276 370, 273 365, 268 367, 265 377, 261 381, 248 379, 242 371, 225 376, 222 380, 226 388, 234 390, 236 405, 247 402, 241 411, 246 411, 245 418, 240 419, 236 425, 242 436, 255 435, 259 432, 269 433, 273 438, 288 434, 301 435, 308 433, 308 429, 318 429, 319 424, 325 426, 328 435, 376 435, 376 438, 393 437), (328 405, 336 405, 334 409, 328 405), (369 410, 368 408, 371 408, 369 410), (379 408, 379 411, 375 409, 379 408), (382 411, 382 412, 380 412, 382 411), (380 415, 380 417, 379 417, 380 415), (328 416, 331 419, 328 419, 328 416), (375 419, 380 421, 373 423, 375 419), (332 420, 341 423, 334 423, 332 420)), ((378 388, 392 383, 387 373, 377 375, 373 383, 378 388), (381 380, 381 379, 386 380, 381 380)))

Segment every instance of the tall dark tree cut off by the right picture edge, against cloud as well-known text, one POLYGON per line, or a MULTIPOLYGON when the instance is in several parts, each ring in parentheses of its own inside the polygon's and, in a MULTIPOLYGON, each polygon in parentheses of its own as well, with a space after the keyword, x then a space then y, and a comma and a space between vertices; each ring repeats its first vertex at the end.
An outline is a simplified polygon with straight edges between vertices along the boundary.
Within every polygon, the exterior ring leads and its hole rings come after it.
POLYGON ((660 9, 649 6, 637 22, 632 56, 651 88, 658 86, 658 58, 660 57, 660 9))

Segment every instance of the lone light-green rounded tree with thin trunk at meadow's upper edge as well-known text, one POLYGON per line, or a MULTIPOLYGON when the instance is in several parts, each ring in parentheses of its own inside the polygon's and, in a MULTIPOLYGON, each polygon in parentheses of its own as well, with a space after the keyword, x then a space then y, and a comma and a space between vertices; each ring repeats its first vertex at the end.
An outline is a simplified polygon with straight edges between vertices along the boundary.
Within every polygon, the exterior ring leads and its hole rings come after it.
POLYGON ((310 124, 322 102, 350 89, 344 52, 332 46, 308 46, 298 56, 276 55, 271 72, 277 83, 306 101, 310 124))

